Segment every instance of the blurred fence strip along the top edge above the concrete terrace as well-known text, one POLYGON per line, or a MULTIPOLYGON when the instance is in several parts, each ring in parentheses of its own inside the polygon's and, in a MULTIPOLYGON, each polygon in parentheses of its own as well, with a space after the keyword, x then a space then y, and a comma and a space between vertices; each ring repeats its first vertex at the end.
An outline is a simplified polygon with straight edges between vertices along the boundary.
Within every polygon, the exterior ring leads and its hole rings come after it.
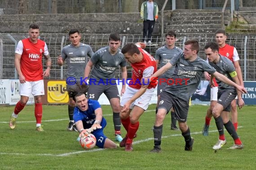
MULTIPOLYGON (((138 13, 145 0, 0 0, 0 15, 44 13, 138 13)), ((165 0, 154 0, 162 9, 165 0)), ((228 1, 227 8, 230 8, 228 1)), ((237 9, 256 7, 256 0, 234 0, 237 9)), ((225 0, 175 0, 176 9, 222 9, 225 0)), ((172 10, 168 0, 164 10, 172 10)))

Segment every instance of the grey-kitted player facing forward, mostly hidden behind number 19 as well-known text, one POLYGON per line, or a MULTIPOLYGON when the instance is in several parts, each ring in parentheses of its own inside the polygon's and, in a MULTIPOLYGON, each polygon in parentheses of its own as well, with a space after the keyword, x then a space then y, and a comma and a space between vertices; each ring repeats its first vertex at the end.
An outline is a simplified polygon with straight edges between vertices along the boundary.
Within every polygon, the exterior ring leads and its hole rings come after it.
MULTIPOLYGON (((160 64, 160 68, 163 67, 165 64, 167 64, 172 57, 178 56, 182 50, 178 47, 175 46, 176 42, 176 34, 172 31, 169 31, 165 35, 165 41, 166 45, 163 47, 160 47, 156 52, 154 59, 156 61, 156 65, 160 64)), ((157 85, 157 103, 156 103, 156 109, 155 112, 157 112, 157 107, 159 105, 159 98, 160 98, 160 93, 163 91, 164 87, 167 85, 167 80, 169 78, 172 78, 172 73, 174 71, 174 67, 168 69, 165 73, 159 76, 159 78, 163 79, 163 81, 158 81, 157 85)), ((176 126, 176 116, 175 116, 175 111, 173 108, 171 109, 171 130, 179 130, 179 128, 176 126)))

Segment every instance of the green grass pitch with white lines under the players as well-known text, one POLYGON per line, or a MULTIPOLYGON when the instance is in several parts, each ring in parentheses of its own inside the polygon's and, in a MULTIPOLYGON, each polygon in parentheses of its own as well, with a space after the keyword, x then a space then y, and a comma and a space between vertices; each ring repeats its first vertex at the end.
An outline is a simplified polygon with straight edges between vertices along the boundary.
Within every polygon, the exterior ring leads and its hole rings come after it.
MULTIPOLYGON (((238 135, 242 150, 227 149, 234 141, 225 131, 227 144, 216 153, 212 146, 218 139, 214 119, 209 136, 202 135, 208 106, 190 106, 188 125, 194 137, 193 151, 184 151, 185 141, 180 131, 170 130, 170 114, 163 124, 162 152, 153 148, 155 105, 150 105, 140 118, 133 151, 124 148, 84 150, 76 141, 78 132, 68 132, 66 105, 44 105, 44 132, 35 131, 34 106, 28 105, 17 119, 17 127, 9 129, 8 122, 14 106, 0 106, 0 170, 254 170, 256 167, 255 106, 238 110, 238 135)), ((115 139, 112 111, 102 106, 107 120, 106 136, 115 139)), ((122 127, 123 136, 125 130, 122 127)))

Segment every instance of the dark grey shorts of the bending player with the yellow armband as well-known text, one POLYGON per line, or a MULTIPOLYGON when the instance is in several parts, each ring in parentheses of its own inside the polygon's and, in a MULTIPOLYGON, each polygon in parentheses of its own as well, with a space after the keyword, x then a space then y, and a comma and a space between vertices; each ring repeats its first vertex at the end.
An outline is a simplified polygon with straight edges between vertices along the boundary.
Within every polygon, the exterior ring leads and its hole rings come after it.
POLYGON ((218 101, 217 103, 220 103, 223 107, 223 111, 230 112, 231 109, 231 102, 236 98, 237 93, 229 90, 223 91, 218 90, 218 101))

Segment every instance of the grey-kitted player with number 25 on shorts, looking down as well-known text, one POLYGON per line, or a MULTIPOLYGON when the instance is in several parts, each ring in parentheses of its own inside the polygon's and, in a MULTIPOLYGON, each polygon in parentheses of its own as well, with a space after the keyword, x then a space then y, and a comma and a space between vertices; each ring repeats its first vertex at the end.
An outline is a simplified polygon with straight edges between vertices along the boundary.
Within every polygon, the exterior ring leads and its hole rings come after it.
POLYGON ((87 79, 93 67, 89 79, 88 98, 98 100, 102 93, 105 93, 113 110, 113 122, 115 128, 115 140, 121 142, 121 120, 119 116, 120 95, 116 85, 115 70, 120 66, 122 71, 122 90, 125 91, 125 82, 127 78, 126 60, 120 46, 120 36, 117 33, 111 33, 109 36, 109 46, 99 49, 88 61, 84 70, 84 79, 87 79))

